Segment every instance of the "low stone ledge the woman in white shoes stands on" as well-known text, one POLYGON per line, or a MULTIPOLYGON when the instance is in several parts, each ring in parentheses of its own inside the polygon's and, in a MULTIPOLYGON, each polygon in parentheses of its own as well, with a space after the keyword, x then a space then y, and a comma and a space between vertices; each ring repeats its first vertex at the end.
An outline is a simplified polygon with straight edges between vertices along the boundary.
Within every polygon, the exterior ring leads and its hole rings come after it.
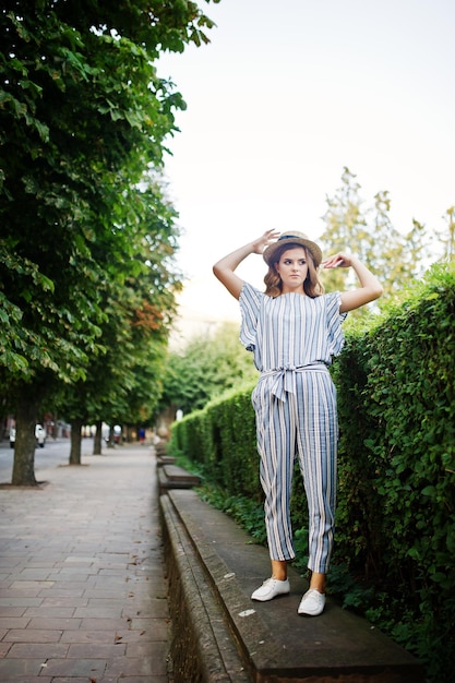
POLYGON ((327 599, 297 614, 306 582, 253 602, 270 575, 265 548, 192 490, 160 496, 170 580, 175 683, 422 683, 422 666, 366 620, 327 599))

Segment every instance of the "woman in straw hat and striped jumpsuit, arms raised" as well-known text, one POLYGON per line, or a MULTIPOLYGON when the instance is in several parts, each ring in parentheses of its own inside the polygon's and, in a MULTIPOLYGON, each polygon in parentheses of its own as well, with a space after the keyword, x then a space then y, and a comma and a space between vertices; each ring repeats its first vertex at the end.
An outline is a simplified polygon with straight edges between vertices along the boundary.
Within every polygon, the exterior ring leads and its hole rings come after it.
POLYGON ((251 598, 266 601, 289 592, 287 562, 296 556, 289 506, 297 454, 309 507, 311 571, 298 612, 315 616, 325 606, 336 499, 338 424, 328 367, 343 348, 344 314, 378 299, 382 287, 355 256, 343 252, 322 261, 320 247, 296 231, 267 230, 218 261, 213 271, 240 301, 240 339, 253 351, 261 372, 252 403, 272 576, 251 598), (265 293, 235 272, 253 253, 262 254, 268 265, 265 293), (320 265, 352 267, 359 287, 324 293, 320 265))

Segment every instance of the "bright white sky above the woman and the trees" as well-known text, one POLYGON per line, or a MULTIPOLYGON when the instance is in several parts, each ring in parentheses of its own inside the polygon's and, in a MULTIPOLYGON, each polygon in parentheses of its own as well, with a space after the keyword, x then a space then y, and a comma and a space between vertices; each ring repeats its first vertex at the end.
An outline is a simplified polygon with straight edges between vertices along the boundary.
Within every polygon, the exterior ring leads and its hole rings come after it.
MULTIPOLYGON (((211 44, 164 56, 188 108, 167 141, 182 231, 184 336, 240 321, 212 265, 267 229, 318 240, 326 199, 355 173, 366 206, 388 191, 404 233, 455 204, 453 0, 221 0, 211 44)), ((355 253, 355 245, 346 245, 355 253)), ((263 288, 253 254, 238 273, 263 288)))

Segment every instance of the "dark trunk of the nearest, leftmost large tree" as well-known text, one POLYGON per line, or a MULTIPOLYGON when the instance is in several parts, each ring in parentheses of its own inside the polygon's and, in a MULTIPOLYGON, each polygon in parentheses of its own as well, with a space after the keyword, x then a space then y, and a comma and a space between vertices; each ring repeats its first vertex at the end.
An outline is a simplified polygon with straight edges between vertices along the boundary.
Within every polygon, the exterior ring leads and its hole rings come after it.
POLYGON ((36 487, 38 482, 35 479, 35 402, 20 399, 15 418, 16 433, 11 483, 15 487, 36 487))

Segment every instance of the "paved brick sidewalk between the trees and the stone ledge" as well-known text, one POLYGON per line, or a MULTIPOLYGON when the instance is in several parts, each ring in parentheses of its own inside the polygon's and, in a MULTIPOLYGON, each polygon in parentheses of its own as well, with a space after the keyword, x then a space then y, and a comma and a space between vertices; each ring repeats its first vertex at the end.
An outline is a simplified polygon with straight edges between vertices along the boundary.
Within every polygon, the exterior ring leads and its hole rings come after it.
POLYGON ((154 452, 82 462, 0 488, 0 681, 168 683, 154 452))

